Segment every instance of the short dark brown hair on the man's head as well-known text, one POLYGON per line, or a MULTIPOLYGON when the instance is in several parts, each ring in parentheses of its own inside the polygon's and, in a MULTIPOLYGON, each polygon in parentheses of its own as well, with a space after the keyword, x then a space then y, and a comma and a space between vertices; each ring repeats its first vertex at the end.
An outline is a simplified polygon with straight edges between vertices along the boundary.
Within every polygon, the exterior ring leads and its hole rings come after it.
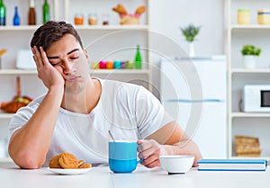
POLYGON ((79 34, 70 23, 55 21, 46 22, 34 32, 31 39, 31 48, 34 46, 42 47, 46 51, 53 42, 62 39, 65 34, 73 35, 83 48, 79 34))

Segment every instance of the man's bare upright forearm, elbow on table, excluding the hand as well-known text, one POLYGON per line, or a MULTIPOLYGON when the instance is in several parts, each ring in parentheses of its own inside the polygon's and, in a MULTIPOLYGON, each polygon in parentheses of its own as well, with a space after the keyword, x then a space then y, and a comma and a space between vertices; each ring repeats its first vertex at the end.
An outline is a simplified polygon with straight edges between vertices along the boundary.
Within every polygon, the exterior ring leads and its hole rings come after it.
POLYGON ((12 136, 9 153, 18 166, 38 168, 44 164, 62 96, 62 89, 51 88, 30 121, 12 136))

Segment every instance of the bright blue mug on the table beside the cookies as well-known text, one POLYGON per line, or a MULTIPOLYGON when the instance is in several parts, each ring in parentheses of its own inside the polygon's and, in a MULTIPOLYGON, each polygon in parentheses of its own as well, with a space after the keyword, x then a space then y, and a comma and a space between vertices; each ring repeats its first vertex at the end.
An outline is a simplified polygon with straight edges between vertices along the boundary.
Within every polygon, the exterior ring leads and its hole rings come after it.
POLYGON ((137 161, 137 141, 109 142, 109 167, 114 173, 131 173, 142 161, 137 161))

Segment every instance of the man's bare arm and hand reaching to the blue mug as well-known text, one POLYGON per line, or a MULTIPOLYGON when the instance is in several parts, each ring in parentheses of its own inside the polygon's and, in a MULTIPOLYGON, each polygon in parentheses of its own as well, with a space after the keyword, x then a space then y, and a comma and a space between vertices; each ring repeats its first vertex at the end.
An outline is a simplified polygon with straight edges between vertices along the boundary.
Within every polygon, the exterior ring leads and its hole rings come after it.
POLYGON ((160 166, 161 155, 191 155, 194 156, 193 166, 202 159, 200 149, 184 135, 184 130, 175 122, 170 122, 157 130, 147 139, 138 140, 139 158, 145 158, 141 165, 147 167, 160 166))

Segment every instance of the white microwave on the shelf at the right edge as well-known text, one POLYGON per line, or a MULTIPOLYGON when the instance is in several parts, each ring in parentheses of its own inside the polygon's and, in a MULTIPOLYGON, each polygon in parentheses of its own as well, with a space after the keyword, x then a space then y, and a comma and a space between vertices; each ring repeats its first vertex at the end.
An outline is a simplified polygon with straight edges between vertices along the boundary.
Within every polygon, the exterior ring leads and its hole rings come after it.
POLYGON ((245 85, 244 112, 270 112, 270 85, 245 85))

